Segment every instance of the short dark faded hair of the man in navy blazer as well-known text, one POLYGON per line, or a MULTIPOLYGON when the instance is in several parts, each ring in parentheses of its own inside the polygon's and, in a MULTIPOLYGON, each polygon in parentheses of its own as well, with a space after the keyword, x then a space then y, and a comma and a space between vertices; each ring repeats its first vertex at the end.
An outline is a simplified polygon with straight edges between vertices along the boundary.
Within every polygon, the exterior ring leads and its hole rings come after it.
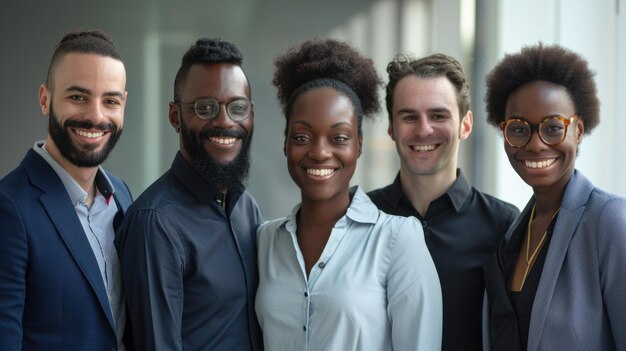
POLYGON ((70 53, 96 54, 122 61, 111 37, 100 30, 80 30, 66 33, 57 44, 46 77, 48 89, 54 88, 54 72, 65 55, 70 53))

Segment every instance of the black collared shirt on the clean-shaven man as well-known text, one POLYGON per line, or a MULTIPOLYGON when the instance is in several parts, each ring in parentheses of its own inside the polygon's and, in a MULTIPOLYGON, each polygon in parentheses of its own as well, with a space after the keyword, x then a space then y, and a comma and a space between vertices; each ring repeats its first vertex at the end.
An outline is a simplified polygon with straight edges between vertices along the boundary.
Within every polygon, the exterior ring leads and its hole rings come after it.
POLYGON ((422 217, 402 191, 400 175, 368 193, 384 212, 415 216, 437 267, 443 295, 442 350, 482 350, 482 265, 495 251, 519 210, 470 186, 457 170, 452 187, 422 217))

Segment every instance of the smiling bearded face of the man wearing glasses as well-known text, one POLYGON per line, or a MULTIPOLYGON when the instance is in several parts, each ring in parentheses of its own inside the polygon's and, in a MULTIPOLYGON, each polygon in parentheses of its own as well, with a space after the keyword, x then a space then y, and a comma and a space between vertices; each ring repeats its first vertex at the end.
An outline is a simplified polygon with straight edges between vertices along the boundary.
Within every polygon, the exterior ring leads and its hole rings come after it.
POLYGON ((234 121, 223 103, 215 118, 202 119, 191 104, 201 98, 219 102, 250 100, 243 70, 226 63, 191 66, 181 94, 181 102, 189 105, 172 102, 169 111, 170 123, 181 134, 183 157, 212 186, 230 190, 241 185, 248 175, 254 112, 251 111, 245 120, 234 121))

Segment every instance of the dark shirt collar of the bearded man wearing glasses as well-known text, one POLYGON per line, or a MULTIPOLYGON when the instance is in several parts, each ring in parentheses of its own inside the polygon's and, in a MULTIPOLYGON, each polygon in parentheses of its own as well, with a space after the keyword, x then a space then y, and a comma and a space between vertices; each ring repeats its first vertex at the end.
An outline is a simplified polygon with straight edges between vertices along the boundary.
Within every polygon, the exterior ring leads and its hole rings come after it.
MULTIPOLYGON (((204 180, 198 172, 191 166, 187 160, 183 157, 183 154, 178 151, 171 167, 172 173, 178 178, 185 188, 201 203, 207 203, 214 201, 220 192, 213 186, 204 180)), ((234 199, 232 196, 235 194, 241 194, 242 187, 239 189, 230 190, 227 194, 229 202, 234 199)))

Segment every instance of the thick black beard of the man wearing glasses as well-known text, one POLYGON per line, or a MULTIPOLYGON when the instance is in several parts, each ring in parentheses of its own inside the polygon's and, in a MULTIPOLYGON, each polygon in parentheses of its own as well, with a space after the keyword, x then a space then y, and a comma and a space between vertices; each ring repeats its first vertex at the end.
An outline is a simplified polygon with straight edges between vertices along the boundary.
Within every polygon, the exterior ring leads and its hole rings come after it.
POLYGON ((248 178, 250 171, 250 144, 252 142, 252 133, 247 134, 238 130, 202 130, 198 136, 194 136, 185 122, 180 121, 181 137, 183 147, 191 158, 191 166, 198 172, 200 177, 207 183, 215 187, 216 190, 234 190, 242 187, 248 178), (234 160, 229 163, 221 163, 213 156, 209 155, 201 140, 208 139, 211 136, 232 136, 241 138, 243 145, 241 151, 234 160))

